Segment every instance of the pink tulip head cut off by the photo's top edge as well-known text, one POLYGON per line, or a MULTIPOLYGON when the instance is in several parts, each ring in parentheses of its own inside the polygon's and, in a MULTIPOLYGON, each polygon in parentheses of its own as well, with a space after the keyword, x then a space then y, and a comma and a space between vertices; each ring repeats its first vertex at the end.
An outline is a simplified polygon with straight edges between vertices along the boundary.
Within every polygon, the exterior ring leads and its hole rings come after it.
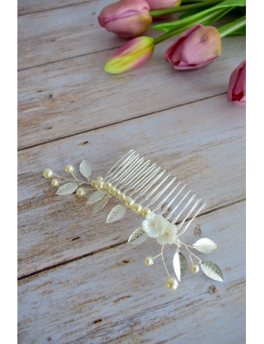
POLYGON ((106 6, 98 17, 99 24, 122 38, 142 35, 152 22, 145 0, 121 0, 106 6))

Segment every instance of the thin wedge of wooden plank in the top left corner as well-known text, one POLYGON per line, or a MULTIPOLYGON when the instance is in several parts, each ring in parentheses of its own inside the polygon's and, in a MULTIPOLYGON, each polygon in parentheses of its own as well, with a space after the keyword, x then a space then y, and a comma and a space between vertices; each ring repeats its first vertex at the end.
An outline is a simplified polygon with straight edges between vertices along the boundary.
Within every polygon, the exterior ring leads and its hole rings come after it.
POLYGON ((31 13, 42 12, 44 10, 79 5, 80 3, 91 1, 94 0, 18 0, 17 15, 28 15, 31 13))

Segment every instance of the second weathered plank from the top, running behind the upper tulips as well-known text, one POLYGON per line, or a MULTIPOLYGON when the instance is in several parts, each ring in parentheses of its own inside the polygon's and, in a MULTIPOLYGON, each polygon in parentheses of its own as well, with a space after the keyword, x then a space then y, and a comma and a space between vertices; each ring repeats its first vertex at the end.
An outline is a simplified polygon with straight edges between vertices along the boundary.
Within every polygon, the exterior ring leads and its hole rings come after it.
MULTIPOLYGON (((18 69, 122 45, 127 40, 106 31, 97 19, 110 3, 113 0, 95 0, 19 17, 18 69)), ((177 17, 174 15, 172 20, 177 17)), ((145 36, 158 37, 160 34, 160 31, 149 29, 145 36)))

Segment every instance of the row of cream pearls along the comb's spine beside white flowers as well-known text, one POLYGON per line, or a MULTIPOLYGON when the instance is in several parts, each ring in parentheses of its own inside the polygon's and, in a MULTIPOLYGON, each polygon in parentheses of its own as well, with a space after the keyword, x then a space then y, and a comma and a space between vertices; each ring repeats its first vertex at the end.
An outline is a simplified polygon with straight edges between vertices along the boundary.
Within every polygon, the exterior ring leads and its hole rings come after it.
POLYGON ((151 213, 151 210, 149 208, 143 208, 142 205, 140 205, 139 203, 135 203, 133 198, 126 196, 124 192, 121 192, 119 189, 117 189, 117 187, 115 187, 115 185, 112 185, 111 182, 106 182, 103 177, 97 177, 96 180, 92 180, 91 185, 97 190, 108 191, 109 194, 124 202, 126 208, 131 208, 131 210, 133 210, 135 214, 141 214, 144 219, 147 217, 148 214, 151 213))

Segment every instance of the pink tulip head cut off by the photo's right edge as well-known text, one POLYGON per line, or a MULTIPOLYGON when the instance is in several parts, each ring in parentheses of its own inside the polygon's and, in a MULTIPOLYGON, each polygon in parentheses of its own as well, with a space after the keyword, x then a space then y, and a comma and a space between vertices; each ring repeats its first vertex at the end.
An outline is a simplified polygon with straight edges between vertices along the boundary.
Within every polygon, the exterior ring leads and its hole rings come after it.
POLYGON ((238 105, 246 104, 246 60, 231 74, 227 100, 238 105))

